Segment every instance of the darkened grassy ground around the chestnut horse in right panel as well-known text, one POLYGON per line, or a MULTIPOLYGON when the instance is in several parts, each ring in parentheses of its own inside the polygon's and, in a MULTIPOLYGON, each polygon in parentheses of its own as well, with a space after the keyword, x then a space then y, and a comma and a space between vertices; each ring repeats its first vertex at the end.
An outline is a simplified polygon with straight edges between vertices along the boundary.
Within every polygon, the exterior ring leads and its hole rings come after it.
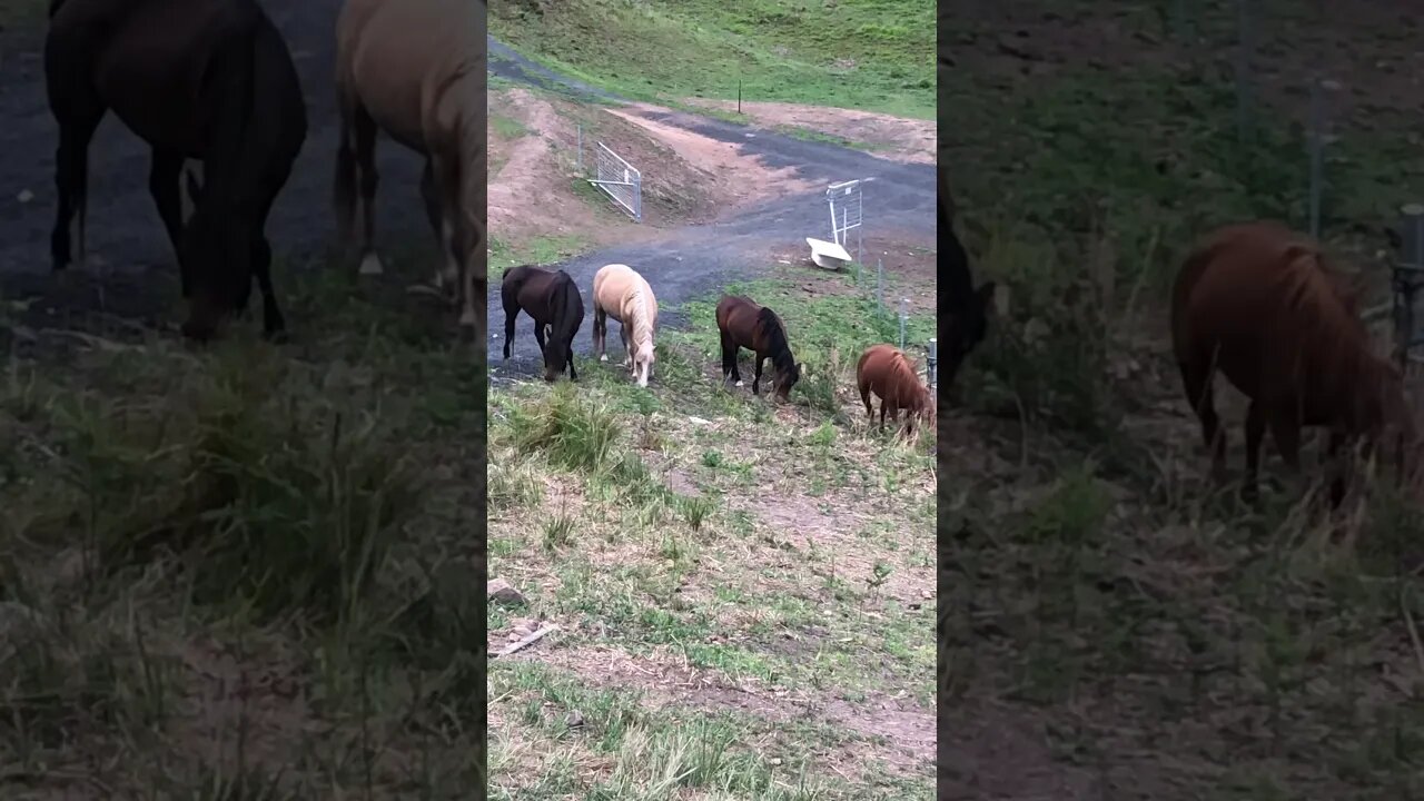
MULTIPOLYGON (((1049 19, 1040 6, 1022 20, 1049 19)), ((1424 586, 1401 566, 1417 556, 1404 544, 1417 507, 1373 486, 1360 519, 1326 520, 1269 440, 1276 486, 1260 506, 1218 490, 1171 361, 1166 295, 1196 237, 1252 218, 1306 228, 1304 134, 1263 108, 1237 140, 1218 11, 1190 58, 1161 20, 1109 3, 1074 24, 1114 16, 1124 38, 1142 31, 1139 63, 1114 51, 1131 66, 941 76, 963 133, 941 145, 958 228, 977 279, 1008 295, 957 381, 958 450, 938 476, 941 703, 970 731, 1034 720, 1048 734, 1024 737, 1044 755, 1021 772, 1131 771, 1142 794, 1173 800, 1413 797, 1424 713, 1404 698, 1424 586)), ((965 38, 997 30, 958 24, 965 38)), ((1262 58, 1302 67, 1309 51, 1263 44, 1262 58)), ((1326 167, 1333 247, 1383 247, 1368 232, 1424 177, 1410 114, 1341 125, 1326 167)), ((1242 416, 1223 416, 1239 476, 1242 416)), ((995 758, 965 738, 950 748, 995 758)))

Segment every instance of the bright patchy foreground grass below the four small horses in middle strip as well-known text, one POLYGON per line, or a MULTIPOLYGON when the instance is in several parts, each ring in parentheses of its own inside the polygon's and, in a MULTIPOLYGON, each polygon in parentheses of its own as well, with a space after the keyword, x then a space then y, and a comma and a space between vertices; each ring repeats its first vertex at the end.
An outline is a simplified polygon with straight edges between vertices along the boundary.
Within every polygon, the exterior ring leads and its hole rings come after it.
MULTIPOLYGON (((803 359, 877 339, 864 305, 795 299, 779 282, 731 289, 780 302, 803 359)), ((776 698, 857 710, 896 697, 931 725, 917 589, 931 458, 839 408, 725 389, 706 352, 711 306, 679 309, 691 332, 659 332, 646 389, 585 358, 577 385, 491 393, 491 570, 528 597, 491 607, 488 624, 562 629, 493 666, 493 794, 928 798, 931 754, 906 767, 903 743, 776 698), (685 670, 702 680, 664 703, 652 677, 685 670), (729 714, 726 687, 756 700, 729 714)), ((824 381, 854 393, 842 373, 824 381)))

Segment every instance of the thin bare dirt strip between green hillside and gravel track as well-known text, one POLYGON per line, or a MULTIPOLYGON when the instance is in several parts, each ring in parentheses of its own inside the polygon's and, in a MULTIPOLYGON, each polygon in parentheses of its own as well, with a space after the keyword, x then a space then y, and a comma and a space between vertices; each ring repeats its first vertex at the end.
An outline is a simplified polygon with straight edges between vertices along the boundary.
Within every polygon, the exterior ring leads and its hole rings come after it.
MULTIPOLYGON (((689 97, 684 103, 719 111, 736 111, 738 105, 735 100, 705 97, 689 97)), ((859 143, 874 145, 876 155, 891 161, 934 164, 934 120, 909 120, 853 108, 760 101, 742 101, 742 114, 752 123, 769 128, 805 128, 839 137, 853 143, 853 145, 859 143)))

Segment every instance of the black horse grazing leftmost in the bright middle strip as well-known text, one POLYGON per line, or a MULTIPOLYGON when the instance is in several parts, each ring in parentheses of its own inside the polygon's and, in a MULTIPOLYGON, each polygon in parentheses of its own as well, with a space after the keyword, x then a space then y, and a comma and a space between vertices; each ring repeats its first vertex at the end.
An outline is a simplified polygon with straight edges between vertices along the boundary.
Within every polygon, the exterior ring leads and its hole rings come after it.
POLYGON ((540 269, 527 264, 511 267, 504 272, 500 299, 504 302, 504 358, 510 358, 514 342, 514 318, 524 309, 534 318, 534 341, 544 353, 544 381, 557 379, 565 365, 568 379, 578 381, 574 335, 584 322, 584 299, 574 279, 562 269, 540 269))

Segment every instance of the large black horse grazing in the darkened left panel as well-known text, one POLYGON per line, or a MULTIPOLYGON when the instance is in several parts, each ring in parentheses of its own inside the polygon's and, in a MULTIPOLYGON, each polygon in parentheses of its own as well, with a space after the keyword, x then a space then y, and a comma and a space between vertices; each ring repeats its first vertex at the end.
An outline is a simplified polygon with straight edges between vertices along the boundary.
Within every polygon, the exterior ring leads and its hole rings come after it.
POLYGON ((211 338, 242 312, 255 277, 266 334, 285 326, 272 291, 265 227, 306 141, 306 105, 292 54, 255 0, 53 0, 44 40, 58 212, 53 269, 68 267, 78 212, 85 258, 88 145, 108 110, 152 148, 148 191, 178 257, 182 331, 211 338), (184 160, 204 187, 182 219, 184 160))

